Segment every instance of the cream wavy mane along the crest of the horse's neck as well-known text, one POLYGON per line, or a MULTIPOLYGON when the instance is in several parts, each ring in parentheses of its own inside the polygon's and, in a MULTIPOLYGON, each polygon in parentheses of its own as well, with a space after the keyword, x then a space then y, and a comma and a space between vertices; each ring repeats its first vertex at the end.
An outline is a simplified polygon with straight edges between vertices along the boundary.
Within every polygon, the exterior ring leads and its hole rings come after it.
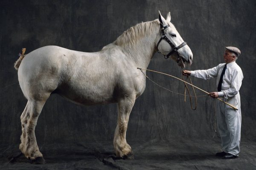
POLYGON ((155 31, 159 31, 159 20, 138 23, 120 35, 114 42, 119 46, 134 45, 141 37, 151 35, 155 31))

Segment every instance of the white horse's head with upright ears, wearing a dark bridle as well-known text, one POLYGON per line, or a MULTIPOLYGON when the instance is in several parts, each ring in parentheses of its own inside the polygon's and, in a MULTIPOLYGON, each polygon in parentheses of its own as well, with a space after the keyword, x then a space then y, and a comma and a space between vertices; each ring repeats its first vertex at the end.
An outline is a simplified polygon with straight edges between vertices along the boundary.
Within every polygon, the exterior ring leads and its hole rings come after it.
POLYGON ((185 67, 184 62, 191 65, 193 54, 189 46, 186 45, 186 42, 180 37, 175 26, 170 22, 170 12, 167 14, 166 19, 164 19, 160 11, 158 11, 158 20, 160 21, 161 29, 156 40, 158 52, 161 52, 166 58, 171 56, 183 68, 185 67))

